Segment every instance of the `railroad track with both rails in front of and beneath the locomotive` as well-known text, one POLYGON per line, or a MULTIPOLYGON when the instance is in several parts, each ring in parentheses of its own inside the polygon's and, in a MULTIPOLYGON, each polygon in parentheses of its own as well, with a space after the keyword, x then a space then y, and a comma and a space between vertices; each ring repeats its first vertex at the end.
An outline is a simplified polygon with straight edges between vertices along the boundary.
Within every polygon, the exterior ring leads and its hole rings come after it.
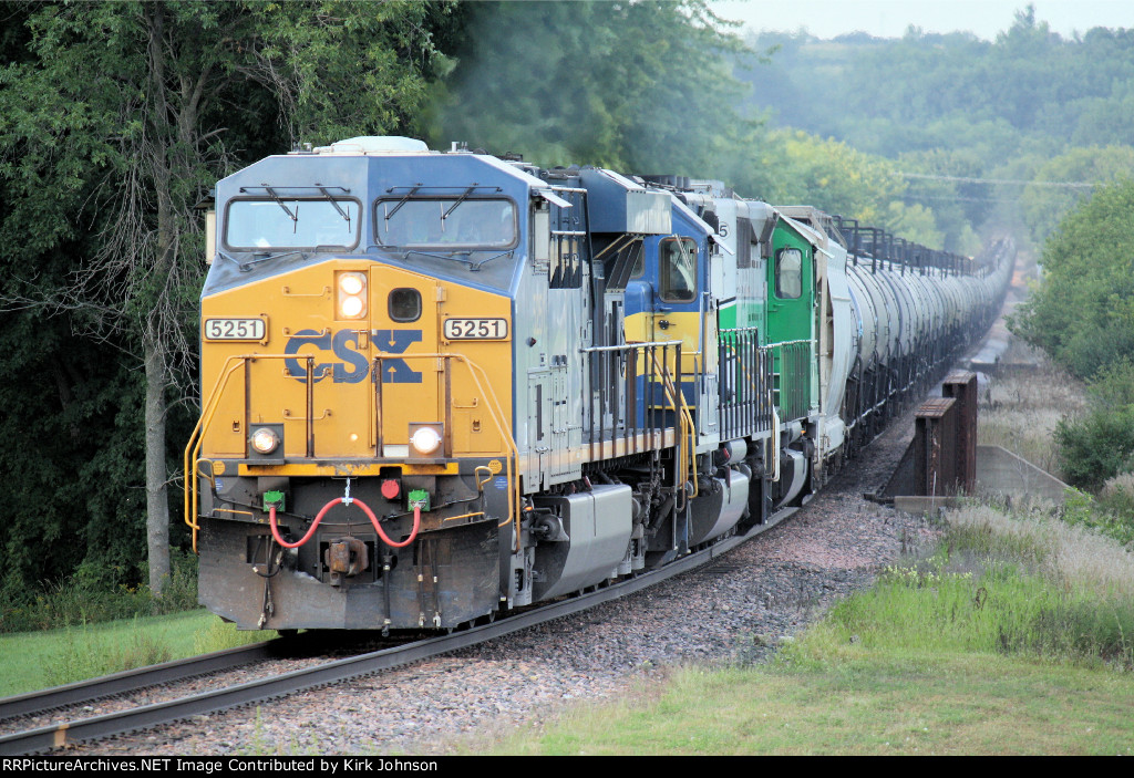
MULTIPOLYGON (((78 718, 26 732, 12 733, 0 737, 0 755, 10 756, 37 753, 83 741, 112 737, 128 732, 147 729, 194 716, 238 708, 310 689, 382 673, 395 667, 475 646, 511 632, 535 626, 536 624, 586 610, 602 602, 626 597, 674 575, 688 572, 712 562, 755 535, 771 529, 794 513, 795 510, 787 508, 780 511, 769 522, 752 528, 746 535, 727 538, 709 548, 689 554, 684 559, 667 565, 661 570, 644 573, 618 583, 591 588, 551 605, 536 607, 508 616, 507 618, 473 626, 451 634, 369 651, 259 681, 249 681, 225 689, 191 694, 167 702, 129 708, 103 716, 78 718)), ((282 646, 284 643, 280 641, 256 643, 240 649, 230 649, 181 661, 143 667, 136 670, 118 673, 42 692, 0 699, 0 720, 17 716, 42 715, 62 707, 82 706, 105 696, 136 692, 147 686, 228 670, 263 659, 279 658, 282 646)))

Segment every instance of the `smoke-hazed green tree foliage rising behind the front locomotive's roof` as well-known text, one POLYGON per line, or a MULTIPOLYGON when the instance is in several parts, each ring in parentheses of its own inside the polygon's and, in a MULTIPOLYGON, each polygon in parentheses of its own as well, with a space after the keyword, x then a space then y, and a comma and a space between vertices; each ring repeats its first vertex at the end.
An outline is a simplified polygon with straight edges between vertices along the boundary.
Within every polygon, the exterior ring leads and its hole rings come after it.
POLYGON ((479 2, 439 85, 431 139, 541 164, 705 176, 752 125, 731 106, 722 52, 741 52, 701 0, 479 2))

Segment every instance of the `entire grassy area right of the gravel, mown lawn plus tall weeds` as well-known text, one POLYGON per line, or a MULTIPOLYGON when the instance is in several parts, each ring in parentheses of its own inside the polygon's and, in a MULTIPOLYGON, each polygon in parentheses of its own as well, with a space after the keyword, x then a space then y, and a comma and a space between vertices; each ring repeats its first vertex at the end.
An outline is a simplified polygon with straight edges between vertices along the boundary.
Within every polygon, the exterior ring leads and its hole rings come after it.
POLYGON ((971 505, 776 661, 676 670, 491 744, 518 754, 1134 754, 1134 559, 1029 508, 971 505))

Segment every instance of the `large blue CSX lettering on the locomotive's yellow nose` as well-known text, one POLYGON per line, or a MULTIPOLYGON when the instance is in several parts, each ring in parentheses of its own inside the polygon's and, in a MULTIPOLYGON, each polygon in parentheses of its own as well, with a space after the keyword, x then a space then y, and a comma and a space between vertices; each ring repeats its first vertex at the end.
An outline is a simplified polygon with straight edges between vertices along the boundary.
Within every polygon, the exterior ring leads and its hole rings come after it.
MULTIPOLYGON (((373 330, 370 333, 374 348, 383 353, 405 353, 414 343, 422 340, 421 330, 373 330)), ((287 359, 288 374, 296 381, 306 381, 306 360, 298 357, 330 351, 338 361, 314 364, 314 378, 320 382, 330 375, 336 384, 357 384, 370 375, 370 361, 359 353, 359 332, 357 330, 339 330, 333 335, 328 332, 301 330, 288 339, 284 353, 295 354, 296 359, 287 359)), ((316 358, 318 359, 318 358, 316 358)), ((371 381, 375 381, 371 376, 371 381)), ((404 359, 382 359, 383 384, 420 384, 422 374, 414 370, 404 359)))

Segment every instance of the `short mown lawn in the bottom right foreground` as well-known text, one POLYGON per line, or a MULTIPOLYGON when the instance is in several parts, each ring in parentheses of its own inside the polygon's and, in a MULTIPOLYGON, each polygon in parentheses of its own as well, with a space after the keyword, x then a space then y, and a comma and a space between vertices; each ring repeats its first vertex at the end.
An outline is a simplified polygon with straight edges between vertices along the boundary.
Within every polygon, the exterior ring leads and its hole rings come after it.
MULTIPOLYGON (((684 669, 658 696, 579 708, 506 754, 1132 754, 1134 678, 997 655, 684 669)), ((475 750, 475 749, 474 749, 475 750)))

